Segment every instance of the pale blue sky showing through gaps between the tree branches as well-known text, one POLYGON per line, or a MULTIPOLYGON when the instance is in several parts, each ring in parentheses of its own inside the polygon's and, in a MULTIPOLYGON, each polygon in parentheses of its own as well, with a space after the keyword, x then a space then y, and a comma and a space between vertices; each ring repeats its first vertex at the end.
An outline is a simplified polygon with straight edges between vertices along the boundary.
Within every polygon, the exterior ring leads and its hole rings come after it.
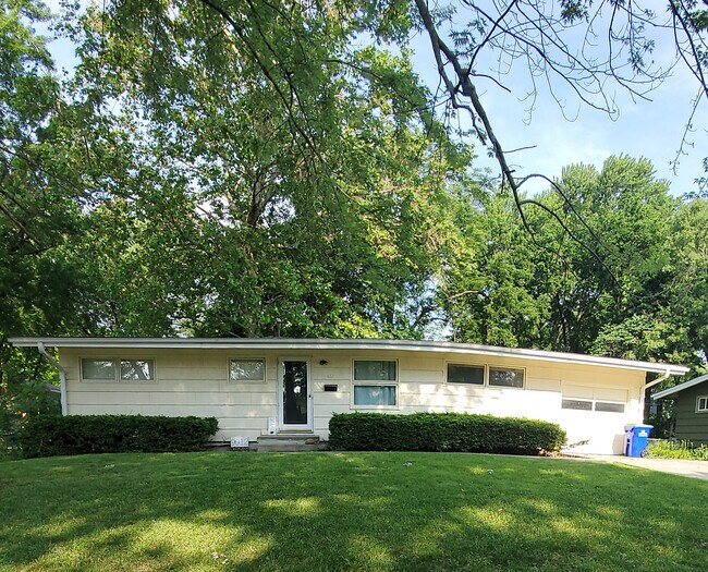
MULTIPOLYGON (((47 3, 52 10, 59 8, 58 0, 47 3)), ((663 10, 662 1, 647 0, 645 3, 654 3, 659 7, 658 10, 663 10)), ((674 53, 671 37, 663 40, 657 42, 655 50, 654 57, 658 61, 670 59, 674 53)), ((416 52, 416 71, 435 88, 438 76, 428 38, 416 38, 413 48, 416 52)), ((53 42, 52 53, 60 69, 71 69, 75 63, 73 47, 68 41, 53 42)), ((659 88, 649 94, 651 101, 633 101, 626 92, 612 89, 611 95, 620 109, 615 120, 579 105, 571 94, 562 94, 567 96, 565 114, 577 115, 574 121, 567 121, 547 88, 541 86, 529 121, 528 101, 525 100, 529 84, 524 66, 520 65, 503 82, 511 93, 484 80, 478 82, 477 88, 503 147, 516 149, 535 146, 509 156, 517 174, 537 172, 556 178, 560 177, 563 167, 571 163, 591 163, 601 168, 611 155, 626 154, 651 160, 657 177, 669 181, 674 195, 697 188, 694 180, 704 175, 703 159, 708 156, 708 105, 705 100, 694 117, 696 129, 688 134, 688 145, 684 146, 685 155, 680 157, 676 172, 670 165, 676 158, 698 87, 685 68, 676 68, 659 88)), ((487 157, 481 146, 477 145, 477 149, 475 167, 489 168, 492 174, 498 174, 495 159, 487 157)), ((545 187, 538 181, 527 185, 526 190, 533 193, 545 187)))

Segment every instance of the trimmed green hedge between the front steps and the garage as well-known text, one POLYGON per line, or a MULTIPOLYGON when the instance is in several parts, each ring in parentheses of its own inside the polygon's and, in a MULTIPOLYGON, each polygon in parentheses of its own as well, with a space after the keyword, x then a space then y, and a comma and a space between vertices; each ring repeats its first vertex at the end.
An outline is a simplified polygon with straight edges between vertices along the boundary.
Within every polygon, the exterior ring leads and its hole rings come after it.
POLYGON ((467 413, 340 413, 329 422, 330 447, 350 451, 540 454, 565 439, 556 423, 467 413))

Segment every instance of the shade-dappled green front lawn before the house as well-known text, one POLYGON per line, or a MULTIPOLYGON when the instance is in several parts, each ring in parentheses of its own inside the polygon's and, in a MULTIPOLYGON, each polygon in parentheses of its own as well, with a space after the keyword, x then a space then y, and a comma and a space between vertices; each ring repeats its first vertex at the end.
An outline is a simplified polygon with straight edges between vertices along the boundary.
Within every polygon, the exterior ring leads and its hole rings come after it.
POLYGON ((707 514, 708 483, 562 459, 4 461, 0 570, 695 571, 707 514))

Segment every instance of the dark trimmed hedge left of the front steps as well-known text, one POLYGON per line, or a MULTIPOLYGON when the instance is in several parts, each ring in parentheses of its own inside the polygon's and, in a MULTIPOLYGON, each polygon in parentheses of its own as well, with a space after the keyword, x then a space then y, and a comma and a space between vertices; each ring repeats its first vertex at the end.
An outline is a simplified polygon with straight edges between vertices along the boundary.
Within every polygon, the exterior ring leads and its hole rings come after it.
POLYGON ((36 415, 20 437, 24 457, 197 451, 217 433, 215 417, 36 415))

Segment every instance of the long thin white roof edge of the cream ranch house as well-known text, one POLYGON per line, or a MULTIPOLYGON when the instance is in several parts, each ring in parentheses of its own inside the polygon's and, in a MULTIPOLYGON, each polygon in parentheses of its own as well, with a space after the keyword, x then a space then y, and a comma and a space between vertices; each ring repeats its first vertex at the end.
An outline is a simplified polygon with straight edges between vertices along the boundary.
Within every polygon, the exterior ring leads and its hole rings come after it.
POLYGON ((389 350, 518 357, 534 361, 617 367, 667 375, 684 375, 687 367, 658 362, 637 362, 545 350, 500 348, 478 343, 434 340, 328 339, 328 338, 10 338, 17 348, 184 349, 184 350, 389 350))

